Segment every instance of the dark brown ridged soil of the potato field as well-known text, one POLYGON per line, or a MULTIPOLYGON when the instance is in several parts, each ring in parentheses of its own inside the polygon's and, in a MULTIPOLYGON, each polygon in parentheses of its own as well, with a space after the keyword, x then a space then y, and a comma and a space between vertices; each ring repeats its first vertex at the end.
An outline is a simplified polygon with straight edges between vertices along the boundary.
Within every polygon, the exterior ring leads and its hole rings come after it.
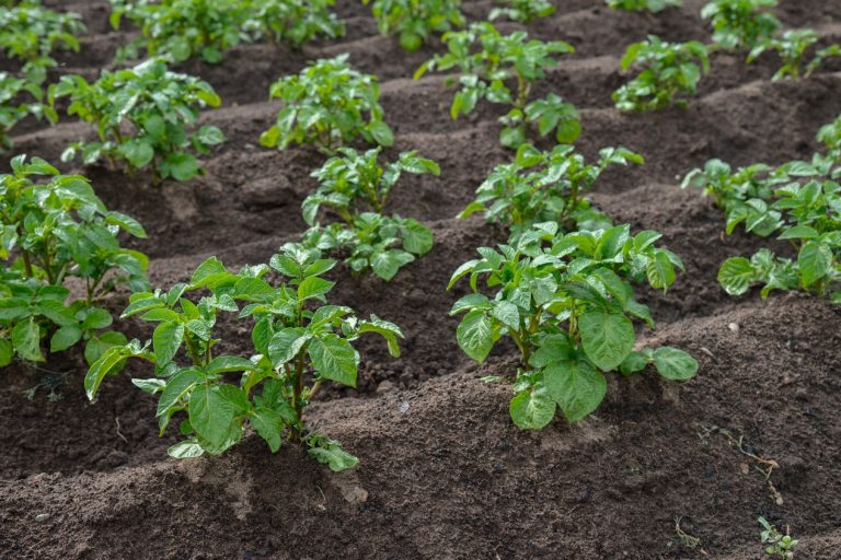
MULTIPOLYGON (((94 77, 127 34, 110 31, 105 1, 51 3, 82 13, 91 32, 80 54, 60 58, 59 73, 94 77)), ((727 296, 718 266, 762 241, 723 235, 712 203, 677 186, 710 158, 736 165, 807 158, 817 129, 841 113, 841 67, 771 82, 773 56, 748 67, 718 54, 688 109, 620 115, 610 94, 624 80, 624 46, 650 33, 706 39, 698 15, 704 2, 686 0, 657 16, 610 11, 598 0, 556 3, 529 32, 569 40, 577 52, 535 93, 556 91, 580 108, 586 154, 622 144, 645 155, 645 166, 604 175, 592 198, 617 222, 663 232, 686 261, 667 294, 644 294, 658 323, 642 341, 693 353, 696 378, 611 377, 604 404, 576 425, 512 425, 509 386, 480 378, 509 375, 514 349, 502 345, 486 364, 472 363, 448 316, 458 293, 443 291, 475 247, 505 238, 480 218, 454 219, 510 156, 497 142, 498 107, 450 120, 452 93, 441 77, 411 80, 435 48, 403 52, 377 35, 369 8, 341 0, 348 28, 341 42, 301 51, 246 45, 219 66, 183 67, 224 98, 204 117, 228 136, 206 159, 205 176, 153 188, 148 177, 77 171, 110 208, 145 224, 149 238, 134 246, 150 255, 155 285, 188 278, 209 255, 231 267, 266 262, 304 229, 300 202, 323 161, 307 148, 257 145, 277 110, 266 102, 268 84, 339 52, 380 77, 396 132, 389 153, 417 149, 442 174, 406 177, 394 199, 398 213, 435 231, 430 254, 390 283, 334 273, 333 302, 406 334, 398 360, 362 342, 358 388, 325 392, 308 412, 359 466, 335 475, 291 445, 272 455, 253 434, 221 457, 170 459, 175 436, 158 438, 154 401, 130 383, 146 376, 139 368, 106 382, 89 404, 78 352, 42 369, 15 364, 0 384, 0 557, 758 559, 760 515, 800 539, 797 558, 841 557, 841 310, 796 294, 727 296), (36 386, 33 398, 24 395, 36 386), (61 397, 55 402, 50 388, 61 397)), ((469 2, 465 11, 481 19, 491 7, 469 2)), ((782 0, 779 15, 826 40, 841 38, 836 0, 782 0)), ((90 130, 68 119, 54 128, 25 122, 19 132, 19 152, 58 161, 67 142, 90 130)), ((124 304, 125 294, 110 302, 115 311, 124 304)), ((148 335, 137 323, 126 328, 148 335)), ((246 334, 232 337, 230 350, 246 351, 246 334)))

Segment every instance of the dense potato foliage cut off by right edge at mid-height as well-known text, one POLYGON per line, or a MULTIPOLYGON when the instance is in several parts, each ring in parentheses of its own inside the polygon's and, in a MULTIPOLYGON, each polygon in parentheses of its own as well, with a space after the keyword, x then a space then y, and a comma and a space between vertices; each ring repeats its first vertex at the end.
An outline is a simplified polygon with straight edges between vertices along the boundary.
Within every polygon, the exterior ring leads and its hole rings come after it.
POLYGON ((811 162, 776 168, 758 164, 734 173, 713 160, 684 179, 683 186, 703 188, 715 197, 727 233, 745 223, 750 233, 787 241, 797 255, 792 260, 763 248, 750 259, 727 259, 718 282, 730 295, 762 284, 763 298, 772 290, 802 290, 841 303, 841 166, 826 130, 831 128, 821 129, 830 153, 815 154, 811 162))

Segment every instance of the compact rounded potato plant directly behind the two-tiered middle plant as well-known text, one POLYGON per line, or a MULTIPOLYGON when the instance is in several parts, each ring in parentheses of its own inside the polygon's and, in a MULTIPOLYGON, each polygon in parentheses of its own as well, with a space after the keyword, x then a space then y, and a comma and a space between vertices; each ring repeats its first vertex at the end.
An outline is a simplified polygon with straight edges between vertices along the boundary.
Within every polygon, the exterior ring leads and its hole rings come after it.
POLYGON ((394 143, 383 120, 377 77, 354 70, 347 58, 319 59, 272 84, 269 98, 281 100, 284 107, 260 143, 280 150, 290 143, 315 144, 327 154, 358 137, 384 147, 394 143))

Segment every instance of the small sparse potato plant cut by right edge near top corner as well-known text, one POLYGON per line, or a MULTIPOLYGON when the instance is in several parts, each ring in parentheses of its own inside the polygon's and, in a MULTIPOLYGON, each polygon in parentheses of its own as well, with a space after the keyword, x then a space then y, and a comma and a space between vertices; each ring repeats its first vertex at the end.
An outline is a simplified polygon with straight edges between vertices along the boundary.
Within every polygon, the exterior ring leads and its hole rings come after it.
POLYGON ((808 78, 826 59, 841 57, 841 45, 833 44, 815 51, 815 56, 804 69, 806 52, 819 39, 820 36, 815 30, 788 30, 781 36, 763 40, 753 47, 748 55, 748 62, 752 62, 767 50, 773 50, 780 57, 781 66, 772 80, 808 78))

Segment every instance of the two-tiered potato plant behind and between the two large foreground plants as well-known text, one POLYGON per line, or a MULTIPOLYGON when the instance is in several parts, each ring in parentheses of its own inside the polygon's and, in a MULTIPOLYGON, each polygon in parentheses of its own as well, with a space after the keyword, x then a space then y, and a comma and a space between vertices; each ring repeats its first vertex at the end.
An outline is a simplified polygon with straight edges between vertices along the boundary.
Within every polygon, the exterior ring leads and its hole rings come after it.
POLYGON ((420 222, 382 213, 391 192, 402 173, 437 176, 440 170, 416 152, 401 153, 384 168, 378 162, 379 148, 364 154, 349 148, 339 152, 312 173, 321 185, 303 201, 303 219, 312 226, 304 233, 304 245, 349 252, 346 262, 353 272, 371 270, 389 281, 401 267, 433 248, 433 232, 420 222), (322 208, 337 214, 342 222, 319 225, 322 208))

